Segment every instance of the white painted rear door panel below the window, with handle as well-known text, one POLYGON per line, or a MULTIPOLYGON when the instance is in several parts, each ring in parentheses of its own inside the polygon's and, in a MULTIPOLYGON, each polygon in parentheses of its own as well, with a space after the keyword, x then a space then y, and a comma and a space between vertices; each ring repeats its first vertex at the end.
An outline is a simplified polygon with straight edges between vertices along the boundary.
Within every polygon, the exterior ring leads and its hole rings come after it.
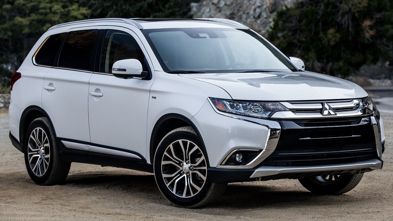
POLYGON ((50 116, 56 136, 90 141, 87 96, 93 74, 81 71, 51 69, 44 78, 42 107, 50 116))

